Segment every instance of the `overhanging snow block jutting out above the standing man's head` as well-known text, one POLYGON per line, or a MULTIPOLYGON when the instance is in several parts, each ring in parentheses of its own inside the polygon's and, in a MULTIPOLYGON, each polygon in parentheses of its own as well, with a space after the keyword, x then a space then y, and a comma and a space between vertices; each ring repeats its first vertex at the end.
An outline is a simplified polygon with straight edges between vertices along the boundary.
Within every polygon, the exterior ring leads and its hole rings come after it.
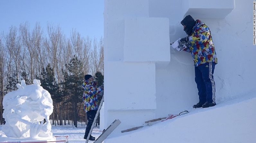
POLYGON ((182 0, 184 17, 191 15, 194 18, 225 18, 235 8, 235 0, 182 0))

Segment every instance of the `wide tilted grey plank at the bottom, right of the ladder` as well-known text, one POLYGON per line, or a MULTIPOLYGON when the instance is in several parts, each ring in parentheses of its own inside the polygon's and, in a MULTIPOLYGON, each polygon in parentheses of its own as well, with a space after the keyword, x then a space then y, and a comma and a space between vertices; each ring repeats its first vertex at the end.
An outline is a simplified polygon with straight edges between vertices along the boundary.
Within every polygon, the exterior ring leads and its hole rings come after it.
POLYGON ((95 140, 94 143, 101 143, 110 135, 112 131, 121 123, 119 119, 114 120, 112 124, 110 124, 105 131, 95 140))

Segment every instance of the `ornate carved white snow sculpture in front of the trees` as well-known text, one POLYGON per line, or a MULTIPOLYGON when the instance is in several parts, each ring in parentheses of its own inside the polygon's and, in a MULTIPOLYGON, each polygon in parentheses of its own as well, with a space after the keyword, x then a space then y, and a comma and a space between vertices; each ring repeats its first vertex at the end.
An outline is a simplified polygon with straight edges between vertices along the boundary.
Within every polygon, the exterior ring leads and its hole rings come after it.
POLYGON ((21 84, 16 84, 17 91, 5 95, 3 117, 6 123, 2 131, 6 137, 53 138, 49 120, 53 112, 52 99, 50 93, 40 85, 40 80, 34 79, 31 85, 26 85, 22 80, 21 84))

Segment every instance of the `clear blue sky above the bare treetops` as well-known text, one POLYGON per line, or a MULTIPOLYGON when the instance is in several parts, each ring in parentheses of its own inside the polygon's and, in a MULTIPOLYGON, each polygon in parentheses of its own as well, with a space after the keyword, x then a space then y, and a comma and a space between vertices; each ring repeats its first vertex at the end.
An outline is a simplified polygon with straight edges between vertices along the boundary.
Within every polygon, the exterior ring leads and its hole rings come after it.
POLYGON ((28 21, 31 29, 40 22, 46 34, 48 22, 59 25, 67 37, 74 28, 83 37, 99 39, 103 37, 103 11, 104 0, 1 0, 0 32, 28 21))

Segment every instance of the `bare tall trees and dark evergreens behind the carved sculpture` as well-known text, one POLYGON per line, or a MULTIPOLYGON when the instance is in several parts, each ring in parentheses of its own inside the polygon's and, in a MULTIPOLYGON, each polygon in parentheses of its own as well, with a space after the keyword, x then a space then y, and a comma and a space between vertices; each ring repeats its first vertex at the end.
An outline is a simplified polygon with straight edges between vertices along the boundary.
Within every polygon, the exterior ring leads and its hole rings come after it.
POLYGON ((82 83, 84 75, 92 74, 103 83, 103 39, 83 37, 72 29, 70 37, 60 26, 47 24, 44 34, 40 23, 30 28, 28 22, 11 26, 0 33, 0 123, 4 124, 3 98, 17 90, 16 83, 32 84, 40 79, 41 86, 53 99, 53 124, 66 125, 78 121, 87 123, 83 111, 82 83), (64 123, 63 123, 64 121, 64 123))

